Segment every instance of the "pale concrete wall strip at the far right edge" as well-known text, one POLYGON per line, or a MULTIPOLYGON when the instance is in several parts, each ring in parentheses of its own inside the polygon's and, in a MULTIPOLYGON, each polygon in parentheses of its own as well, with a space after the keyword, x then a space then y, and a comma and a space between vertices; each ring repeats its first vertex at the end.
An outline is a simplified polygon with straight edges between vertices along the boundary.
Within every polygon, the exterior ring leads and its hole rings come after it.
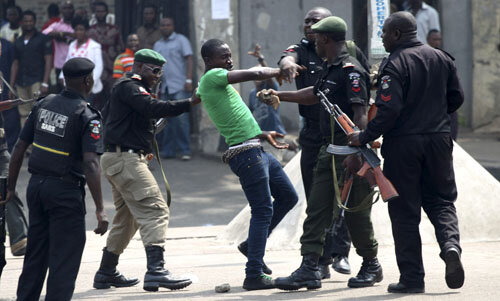
POLYGON ((472 1, 472 127, 500 132, 500 2, 472 1))

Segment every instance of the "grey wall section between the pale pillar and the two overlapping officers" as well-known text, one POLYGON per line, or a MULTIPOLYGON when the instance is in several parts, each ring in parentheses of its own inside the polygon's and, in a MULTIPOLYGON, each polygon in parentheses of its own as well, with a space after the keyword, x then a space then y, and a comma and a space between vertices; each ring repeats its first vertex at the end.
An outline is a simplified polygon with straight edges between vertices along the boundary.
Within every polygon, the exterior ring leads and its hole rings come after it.
MULTIPOLYGON (((233 0, 234 1, 234 0, 233 0)), ((324 6, 335 15, 344 18, 351 28, 352 9, 350 1, 343 0, 252 0, 240 1, 239 36, 240 68, 250 68, 257 64, 247 52, 256 43, 262 46, 262 53, 270 67, 276 67, 283 50, 298 43, 303 36, 302 24, 308 10, 324 6)), ((348 32, 351 38, 352 31, 348 32)), ((252 82, 241 84, 241 96, 248 101, 252 82)), ((285 84, 282 90, 295 90, 295 84, 285 84)), ((299 114, 296 104, 283 103, 280 108, 281 119, 287 131, 298 131, 299 114)))

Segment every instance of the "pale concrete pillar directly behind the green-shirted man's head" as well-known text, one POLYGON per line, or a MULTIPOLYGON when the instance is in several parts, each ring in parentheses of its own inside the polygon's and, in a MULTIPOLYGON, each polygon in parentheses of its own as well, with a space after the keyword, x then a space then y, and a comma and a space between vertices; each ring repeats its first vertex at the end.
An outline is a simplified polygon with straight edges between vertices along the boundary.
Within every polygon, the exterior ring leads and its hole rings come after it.
MULTIPOLYGON (((231 47, 235 68, 239 64, 239 14, 238 1, 231 1, 231 15, 226 20, 212 20, 211 1, 192 0, 192 17, 195 20, 192 39, 193 51, 196 52, 196 73, 201 78, 204 70, 203 59, 199 52, 204 41, 217 38, 225 41, 231 47)), ((238 88, 238 85, 235 86, 238 88)), ((196 116, 199 120, 199 136, 196 137, 198 149, 204 153, 215 153, 219 146, 219 133, 204 109, 196 108, 196 116)))

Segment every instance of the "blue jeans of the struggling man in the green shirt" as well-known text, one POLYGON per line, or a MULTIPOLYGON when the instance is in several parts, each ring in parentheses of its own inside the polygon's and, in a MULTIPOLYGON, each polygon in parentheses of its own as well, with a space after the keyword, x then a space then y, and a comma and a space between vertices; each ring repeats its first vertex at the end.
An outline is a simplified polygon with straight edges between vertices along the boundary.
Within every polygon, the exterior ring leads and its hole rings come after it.
POLYGON ((239 177, 250 205, 245 273, 247 277, 257 277, 262 274, 267 237, 295 206, 297 192, 278 160, 262 148, 252 148, 234 156, 229 166, 239 177))

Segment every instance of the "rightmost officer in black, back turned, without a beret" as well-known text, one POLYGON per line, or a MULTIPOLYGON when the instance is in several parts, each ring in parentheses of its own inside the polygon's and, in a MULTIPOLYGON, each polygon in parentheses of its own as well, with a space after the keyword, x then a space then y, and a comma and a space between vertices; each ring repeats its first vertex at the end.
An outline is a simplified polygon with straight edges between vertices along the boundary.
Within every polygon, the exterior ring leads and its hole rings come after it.
POLYGON ((389 58, 379 70, 376 117, 365 131, 349 137, 353 145, 384 135, 384 174, 399 198, 389 202, 389 216, 401 276, 392 293, 423 293, 424 266, 418 225, 421 208, 434 225, 446 263, 446 283, 464 282, 460 261, 457 188, 449 113, 464 101, 453 58, 417 39, 415 18, 398 12, 386 19, 382 41, 389 58))

